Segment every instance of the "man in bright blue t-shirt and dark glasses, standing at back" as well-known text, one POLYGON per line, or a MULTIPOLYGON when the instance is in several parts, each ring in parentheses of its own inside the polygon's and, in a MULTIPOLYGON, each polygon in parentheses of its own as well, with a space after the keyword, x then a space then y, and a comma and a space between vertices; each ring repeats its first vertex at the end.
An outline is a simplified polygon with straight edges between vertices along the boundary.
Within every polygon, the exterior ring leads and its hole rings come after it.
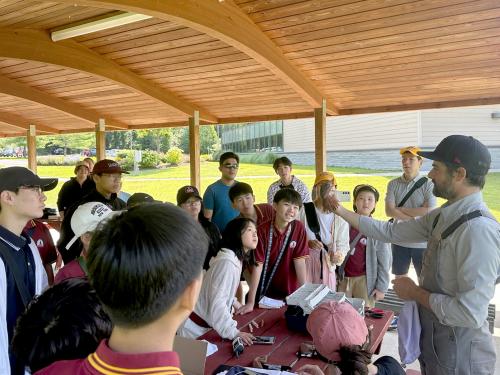
POLYGON ((203 213, 221 232, 229 221, 240 214, 229 199, 229 189, 237 182, 239 162, 240 158, 234 152, 223 153, 219 158, 221 178, 209 185, 203 194, 203 213))

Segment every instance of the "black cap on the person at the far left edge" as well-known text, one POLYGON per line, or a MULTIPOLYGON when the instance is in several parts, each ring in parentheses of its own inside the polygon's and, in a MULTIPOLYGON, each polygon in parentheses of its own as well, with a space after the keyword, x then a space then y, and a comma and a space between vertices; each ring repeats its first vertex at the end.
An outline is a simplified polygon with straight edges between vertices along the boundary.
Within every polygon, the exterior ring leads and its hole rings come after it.
POLYGON ((57 178, 40 178, 28 168, 8 167, 0 169, 0 192, 15 191, 21 186, 40 186, 43 191, 56 187, 57 178))

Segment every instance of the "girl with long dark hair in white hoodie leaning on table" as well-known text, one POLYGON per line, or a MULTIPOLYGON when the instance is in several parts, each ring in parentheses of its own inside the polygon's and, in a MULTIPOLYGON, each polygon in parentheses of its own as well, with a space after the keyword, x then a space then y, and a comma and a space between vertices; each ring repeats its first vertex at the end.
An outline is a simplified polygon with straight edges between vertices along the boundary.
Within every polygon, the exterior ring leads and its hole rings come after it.
POLYGON ((221 250, 210 262, 198 302, 177 332, 179 335, 197 338, 213 328, 222 338, 232 340, 239 336, 245 344, 252 344, 253 335, 238 330, 231 310, 241 307, 235 298, 236 289, 242 268, 256 265, 253 250, 257 242, 257 228, 253 220, 236 218, 227 224, 221 250))

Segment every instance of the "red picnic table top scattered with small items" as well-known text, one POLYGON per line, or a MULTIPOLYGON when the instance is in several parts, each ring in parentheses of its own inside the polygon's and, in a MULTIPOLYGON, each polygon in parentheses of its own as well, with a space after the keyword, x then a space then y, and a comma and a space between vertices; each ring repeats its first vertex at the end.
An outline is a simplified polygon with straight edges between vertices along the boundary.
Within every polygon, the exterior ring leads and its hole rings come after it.
MULTIPOLYGON (((326 365, 325 362, 317 358, 300 358, 297 360, 297 352, 300 344, 311 341, 311 336, 305 333, 290 331, 285 321, 286 307, 281 309, 255 309, 249 314, 236 316, 238 328, 245 329, 250 321, 264 321, 262 327, 254 329, 253 334, 258 336, 275 336, 276 341, 273 345, 252 345, 245 346, 245 350, 239 356, 235 357, 232 349, 231 340, 222 339, 215 330, 210 330, 198 339, 207 340, 218 347, 218 351, 207 357, 205 363, 205 374, 212 374, 220 365, 229 366, 252 366, 252 362, 256 357, 268 356, 267 363, 275 365, 284 365, 292 367, 292 370, 297 370, 305 364, 316 364, 320 367, 326 365)), ((385 332, 389 328, 391 320, 394 316, 392 311, 385 311, 382 318, 374 319, 365 317, 366 325, 373 326, 371 332, 371 343, 368 351, 376 353, 379 349, 385 332)))

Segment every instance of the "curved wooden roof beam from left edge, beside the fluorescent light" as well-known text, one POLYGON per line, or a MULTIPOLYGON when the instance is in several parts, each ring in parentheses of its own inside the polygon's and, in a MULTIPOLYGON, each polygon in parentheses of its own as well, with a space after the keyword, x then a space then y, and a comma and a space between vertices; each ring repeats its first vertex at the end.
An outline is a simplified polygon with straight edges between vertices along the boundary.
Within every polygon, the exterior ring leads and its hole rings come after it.
POLYGON ((212 123, 217 122, 214 115, 72 40, 54 43, 45 32, 0 29, 0 56, 39 61, 85 72, 147 95, 188 116, 195 110, 200 110, 200 118, 212 123))

